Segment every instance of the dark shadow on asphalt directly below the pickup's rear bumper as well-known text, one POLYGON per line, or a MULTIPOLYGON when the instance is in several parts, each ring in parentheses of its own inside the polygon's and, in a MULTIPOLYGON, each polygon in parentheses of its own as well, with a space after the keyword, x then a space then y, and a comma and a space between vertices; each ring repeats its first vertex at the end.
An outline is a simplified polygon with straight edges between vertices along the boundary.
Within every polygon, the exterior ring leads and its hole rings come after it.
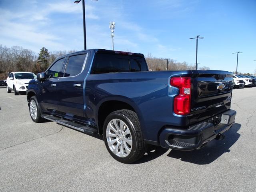
POLYGON ((235 123, 234 126, 230 128, 230 130, 224 133, 226 137, 222 141, 212 140, 200 150, 171 150, 167 156, 198 165, 210 164, 211 162, 219 158, 222 154, 230 152, 230 147, 240 137, 240 134, 238 133, 238 130, 240 128, 241 124, 235 123))

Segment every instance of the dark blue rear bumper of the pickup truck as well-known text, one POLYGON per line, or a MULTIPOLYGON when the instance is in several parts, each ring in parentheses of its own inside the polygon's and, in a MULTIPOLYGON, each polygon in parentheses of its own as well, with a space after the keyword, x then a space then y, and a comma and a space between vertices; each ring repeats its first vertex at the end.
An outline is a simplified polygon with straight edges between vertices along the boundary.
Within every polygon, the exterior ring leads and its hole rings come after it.
POLYGON ((216 122, 214 122, 213 118, 186 129, 166 126, 159 136, 160 145, 164 148, 176 150, 200 149, 234 125, 236 111, 227 110, 220 115, 220 123, 215 126, 216 122))

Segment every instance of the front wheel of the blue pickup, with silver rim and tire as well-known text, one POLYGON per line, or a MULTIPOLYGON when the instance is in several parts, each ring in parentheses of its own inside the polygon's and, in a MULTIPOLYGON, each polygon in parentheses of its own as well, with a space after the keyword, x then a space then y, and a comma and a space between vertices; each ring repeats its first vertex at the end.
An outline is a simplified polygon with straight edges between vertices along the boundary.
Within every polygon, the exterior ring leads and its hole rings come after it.
POLYGON ((29 112, 30 112, 30 117, 32 121, 36 123, 43 122, 44 118, 41 117, 41 110, 36 100, 36 96, 32 96, 30 98, 28 106, 29 106, 29 112))

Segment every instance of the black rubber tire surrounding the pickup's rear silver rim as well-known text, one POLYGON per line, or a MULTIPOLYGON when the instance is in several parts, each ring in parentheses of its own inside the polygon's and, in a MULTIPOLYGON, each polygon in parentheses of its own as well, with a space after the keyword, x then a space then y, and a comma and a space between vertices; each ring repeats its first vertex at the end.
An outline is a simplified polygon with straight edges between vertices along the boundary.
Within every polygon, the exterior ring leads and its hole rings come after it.
POLYGON ((108 152, 115 160, 119 162, 130 164, 139 160, 145 154, 146 143, 144 142, 143 135, 140 129, 140 122, 137 114, 131 110, 118 110, 110 113, 106 117, 104 122, 103 138, 104 138, 106 148, 108 149, 108 152), (131 147, 130 154, 128 154, 128 156, 126 157, 117 156, 110 150, 110 147, 108 146, 108 141, 106 138, 106 129, 107 129, 108 123, 115 118, 122 120, 128 126, 131 133, 130 135, 132 137, 132 147, 131 147))

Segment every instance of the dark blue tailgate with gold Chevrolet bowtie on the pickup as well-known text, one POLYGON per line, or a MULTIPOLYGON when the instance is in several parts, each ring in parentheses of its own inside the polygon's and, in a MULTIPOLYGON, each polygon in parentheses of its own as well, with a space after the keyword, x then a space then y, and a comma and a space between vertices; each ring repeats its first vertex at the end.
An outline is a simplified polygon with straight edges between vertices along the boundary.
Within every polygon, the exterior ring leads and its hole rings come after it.
POLYGON ((190 124, 214 116, 214 122, 220 121, 218 114, 230 109, 233 78, 227 71, 192 71, 192 95, 190 124))

